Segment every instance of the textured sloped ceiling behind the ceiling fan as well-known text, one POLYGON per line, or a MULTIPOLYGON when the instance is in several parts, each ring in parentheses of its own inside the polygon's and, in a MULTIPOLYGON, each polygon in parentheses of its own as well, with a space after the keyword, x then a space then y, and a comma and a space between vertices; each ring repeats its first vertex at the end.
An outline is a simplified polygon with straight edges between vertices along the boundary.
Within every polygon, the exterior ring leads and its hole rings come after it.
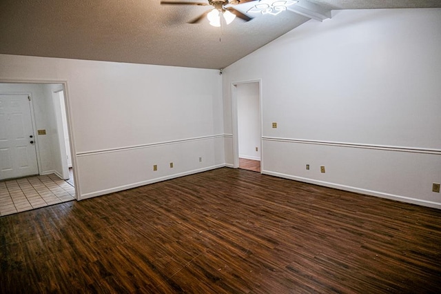
MULTIPOLYGON (((440 0, 300 0, 299 5, 311 3, 325 10, 441 7, 440 0)), ((246 11, 249 5, 236 7, 246 11)), ((225 68, 309 20, 285 11, 249 22, 236 19, 223 28, 205 19, 187 23, 209 9, 161 6, 160 0, 1 0, 0 53, 225 68)))

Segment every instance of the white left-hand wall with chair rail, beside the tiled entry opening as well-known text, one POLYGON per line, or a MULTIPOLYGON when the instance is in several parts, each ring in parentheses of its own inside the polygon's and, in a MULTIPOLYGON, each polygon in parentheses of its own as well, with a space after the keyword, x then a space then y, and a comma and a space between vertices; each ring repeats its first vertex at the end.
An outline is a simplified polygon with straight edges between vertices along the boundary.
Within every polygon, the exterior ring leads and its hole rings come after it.
POLYGON ((0 81, 66 83, 80 199, 225 165, 217 70, 0 55, 0 81))

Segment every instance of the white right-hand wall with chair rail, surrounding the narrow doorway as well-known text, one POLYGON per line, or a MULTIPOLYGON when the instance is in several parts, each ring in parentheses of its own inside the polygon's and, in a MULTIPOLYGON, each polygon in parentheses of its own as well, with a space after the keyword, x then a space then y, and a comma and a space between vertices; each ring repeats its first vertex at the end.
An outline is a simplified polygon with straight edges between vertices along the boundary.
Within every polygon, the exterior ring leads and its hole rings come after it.
POLYGON ((441 9, 309 21, 225 68, 225 133, 231 84, 261 79, 263 173, 441 208, 438 28, 441 9))

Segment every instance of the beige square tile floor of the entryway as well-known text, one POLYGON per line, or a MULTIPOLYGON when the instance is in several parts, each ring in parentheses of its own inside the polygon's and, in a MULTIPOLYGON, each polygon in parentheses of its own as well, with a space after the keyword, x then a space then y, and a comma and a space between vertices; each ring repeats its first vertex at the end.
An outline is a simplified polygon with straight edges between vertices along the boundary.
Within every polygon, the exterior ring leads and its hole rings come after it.
POLYGON ((54 174, 0 182, 0 216, 74 199, 75 188, 54 174))

